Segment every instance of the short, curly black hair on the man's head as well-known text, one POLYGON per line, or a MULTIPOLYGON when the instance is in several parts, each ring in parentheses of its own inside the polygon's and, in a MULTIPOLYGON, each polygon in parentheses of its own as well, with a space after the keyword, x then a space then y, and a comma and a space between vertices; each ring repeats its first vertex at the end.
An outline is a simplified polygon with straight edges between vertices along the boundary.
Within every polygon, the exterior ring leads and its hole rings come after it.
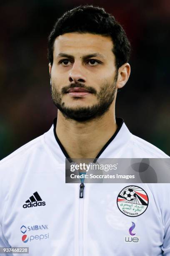
POLYGON ((130 42, 122 26, 115 17, 103 8, 93 5, 78 6, 64 13, 57 20, 48 37, 48 59, 53 63, 53 45, 57 36, 65 33, 92 33, 110 36, 113 42, 113 53, 116 59, 116 68, 129 61, 130 42))

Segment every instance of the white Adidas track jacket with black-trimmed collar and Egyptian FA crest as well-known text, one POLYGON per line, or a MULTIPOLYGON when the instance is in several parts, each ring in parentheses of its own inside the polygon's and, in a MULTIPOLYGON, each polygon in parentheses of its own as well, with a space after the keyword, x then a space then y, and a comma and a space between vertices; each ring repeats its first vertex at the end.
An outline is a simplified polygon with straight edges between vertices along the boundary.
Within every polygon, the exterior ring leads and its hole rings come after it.
MULTIPOLYGON (((168 157, 130 133, 121 118, 117 125, 97 157, 168 157)), ((56 119, 0 161, 0 247, 29 247, 29 254, 9 254, 18 256, 170 256, 170 185, 130 184, 149 202, 133 217, 117 206, 127 184, 85 184, 80 198, 80 184, 65 184, 68 155, 55 126, 56 119)))

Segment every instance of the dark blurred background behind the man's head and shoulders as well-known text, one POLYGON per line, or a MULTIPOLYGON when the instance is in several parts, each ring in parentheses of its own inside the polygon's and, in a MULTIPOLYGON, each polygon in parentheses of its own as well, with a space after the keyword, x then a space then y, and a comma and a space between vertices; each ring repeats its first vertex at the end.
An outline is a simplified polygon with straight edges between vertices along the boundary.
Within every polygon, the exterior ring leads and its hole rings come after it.
POLYGON ((47 36, 62 13, 87 3, 112 13, 133 47, 116 115, 170 155, 169 0, 1 0, 0 159, 52 125, 57 110, 50 97, 47 36))

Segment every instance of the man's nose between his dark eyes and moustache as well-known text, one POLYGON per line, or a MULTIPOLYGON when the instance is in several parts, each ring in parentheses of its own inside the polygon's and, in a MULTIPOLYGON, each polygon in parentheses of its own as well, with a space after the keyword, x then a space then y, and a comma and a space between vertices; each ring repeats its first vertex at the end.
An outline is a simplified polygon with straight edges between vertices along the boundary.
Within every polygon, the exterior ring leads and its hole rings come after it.
POLYGON ((86 82, 85 75, 82 73, 82 69, 80 67, 80 63, 76 64, 74 63, 72 66, 72 69, 70 70, 69 74, 69 82, 70 83, 77 83, 77 82, 86 82))

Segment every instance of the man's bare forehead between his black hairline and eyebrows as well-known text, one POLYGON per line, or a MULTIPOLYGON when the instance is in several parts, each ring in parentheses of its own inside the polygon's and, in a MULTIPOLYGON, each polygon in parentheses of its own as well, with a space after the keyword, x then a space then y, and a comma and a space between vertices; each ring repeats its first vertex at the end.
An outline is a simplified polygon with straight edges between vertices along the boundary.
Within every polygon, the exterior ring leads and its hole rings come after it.
POLYGON ((109 36, 95 35, 91 33, 65 33, 58 36, 54 42, 54 54, 60 52, 90 54, 100 52, 110 54, 113 43, 109 36))

